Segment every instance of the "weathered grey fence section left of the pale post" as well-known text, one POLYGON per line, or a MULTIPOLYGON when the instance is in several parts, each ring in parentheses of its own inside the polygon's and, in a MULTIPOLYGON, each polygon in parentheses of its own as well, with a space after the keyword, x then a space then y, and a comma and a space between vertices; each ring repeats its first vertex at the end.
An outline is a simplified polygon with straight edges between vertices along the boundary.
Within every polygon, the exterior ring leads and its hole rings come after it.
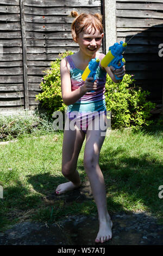
MULTIPOLYGON (((78 51, 68 17, 101 13, 100 0, 3 0, 0 4, 0 112, 29 109, 38 101, 42 72, 58 54, 78 51)), ((101 52, 103 48, 101 48, 101 52)))

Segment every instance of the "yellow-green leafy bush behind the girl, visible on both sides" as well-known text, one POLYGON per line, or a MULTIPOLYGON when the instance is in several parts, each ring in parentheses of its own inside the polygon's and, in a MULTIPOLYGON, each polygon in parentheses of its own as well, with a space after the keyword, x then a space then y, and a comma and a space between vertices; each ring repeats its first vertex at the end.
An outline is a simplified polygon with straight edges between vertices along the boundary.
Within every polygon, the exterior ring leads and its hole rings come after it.
MULTIPOLYGON (((46 75, 42 78, 42 92, 36 95, 36 100, 46 107, 49 114, 65 111, 66 105, 61 96, 60 60, 71 54, 73 52, 70 51, 59 54, 60 58, 51 63, 50 69, 45 71, 46 75)), ((132 127, 137 130, 153 123, 149 119, 155 103, 146 100, 149 92, 133 85, 134 81, 133 75, 128 74, 118 84, 112 82, 109 75, 106 77, 105 101, 107 111, 111 111, 112 129, 132 127)))

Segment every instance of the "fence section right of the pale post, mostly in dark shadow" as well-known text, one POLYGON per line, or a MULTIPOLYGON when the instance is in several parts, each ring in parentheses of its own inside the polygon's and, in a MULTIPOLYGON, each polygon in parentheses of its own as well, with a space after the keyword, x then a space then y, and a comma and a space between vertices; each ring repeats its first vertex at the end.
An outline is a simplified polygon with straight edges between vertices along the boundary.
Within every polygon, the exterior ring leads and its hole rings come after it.
POLYGON ((163 99, 162 29, 163 0, 116 1, 117 41, 127 42, 135 35, 124 53, 127 73, 134 74, 136 84, 151 92, 147 99, 158 104, 163 99))

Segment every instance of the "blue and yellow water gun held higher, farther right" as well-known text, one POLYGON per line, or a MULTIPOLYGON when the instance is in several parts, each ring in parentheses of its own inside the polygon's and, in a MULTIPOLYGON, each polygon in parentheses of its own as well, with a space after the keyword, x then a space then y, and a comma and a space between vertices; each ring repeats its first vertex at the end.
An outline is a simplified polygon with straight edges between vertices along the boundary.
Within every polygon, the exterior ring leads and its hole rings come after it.
MULTIPOLYGON (((127 42, 121 41, 120 44, 116 42, 114 45, 109 47, 109 52, 101 60, 101 65, 106 68, 106 66, 113 66, 115 69, 121 69, 124 63, 122 62, 122 53, 126 50, 127 42)), ((121 80, 123 77, 117 77, 117 80, 121 80)))

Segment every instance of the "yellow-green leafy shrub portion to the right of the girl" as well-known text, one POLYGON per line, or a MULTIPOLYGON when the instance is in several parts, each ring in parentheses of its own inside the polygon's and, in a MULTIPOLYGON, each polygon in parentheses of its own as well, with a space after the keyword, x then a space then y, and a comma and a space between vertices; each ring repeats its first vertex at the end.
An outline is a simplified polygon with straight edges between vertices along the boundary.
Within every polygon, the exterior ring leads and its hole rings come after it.
POLYGON ((150 93, 136 87, 134 81, 133 75, 128 74, 118 84, 112 82, 109 75, 106 77, 105 101, 107 110, 111 111, 112 129, 132 127, 137 130, 153 123, 149 118, 156 104, 146 101, 150 93))

